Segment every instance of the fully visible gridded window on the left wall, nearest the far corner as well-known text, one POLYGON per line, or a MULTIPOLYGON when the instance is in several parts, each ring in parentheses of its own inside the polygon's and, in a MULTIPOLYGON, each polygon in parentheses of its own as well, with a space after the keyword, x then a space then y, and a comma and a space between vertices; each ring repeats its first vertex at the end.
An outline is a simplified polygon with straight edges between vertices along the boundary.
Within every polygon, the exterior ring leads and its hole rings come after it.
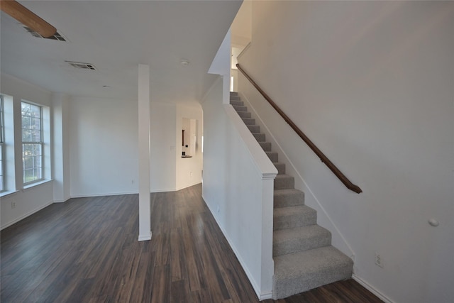
POLYGON ((23 184, 43 180, 43 110, 21 103, 23 184))

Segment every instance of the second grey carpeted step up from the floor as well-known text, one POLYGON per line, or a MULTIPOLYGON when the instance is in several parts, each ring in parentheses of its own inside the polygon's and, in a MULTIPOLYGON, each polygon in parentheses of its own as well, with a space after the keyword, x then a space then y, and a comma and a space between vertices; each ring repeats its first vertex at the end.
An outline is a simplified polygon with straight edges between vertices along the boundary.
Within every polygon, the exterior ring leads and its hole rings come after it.
POLYGON ((331 245, 331 233, 319 225, 286 228, 273 232, 272 255, 288 255, 331 245))

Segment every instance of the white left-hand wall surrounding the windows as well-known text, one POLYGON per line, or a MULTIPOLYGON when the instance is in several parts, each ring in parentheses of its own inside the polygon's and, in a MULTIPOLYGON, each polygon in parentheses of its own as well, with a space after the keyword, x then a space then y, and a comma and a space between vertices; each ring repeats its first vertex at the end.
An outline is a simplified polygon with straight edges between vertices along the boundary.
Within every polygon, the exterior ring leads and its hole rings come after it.
MULTIPOLYGON (((1 228, 10 226, 17 221, 33 214, 39 209, 43 209, 52 203, 52 181, 44 182, 43 184, 35 185, 28 189, 23 188, 22 180, 22 151, 21 151, 21 101, 31 101, 35 104, 49 107, 51 106, 51 93, 33 84, 24 82, 21 79, 11 77, 9 75, 1 74, 1 88, 2 94, 7 94, 13 97, 14 108, 14 125, 15 125, 15 142, 16 148, 14 150, 15 165, 15 183, 9 183, 9 194, 2 194, 1 197, 1 228), (17 144, 18 142, 18 144, 17 144), (15 202, 16 207, 13 209, 11 203, 15 202)), ((10 117, 11 118, 11 117, 10 117)), ((49 116, 49 119, 51 117, 49 116)), ((52 123, 50 123, 52 127, 52 123)), ((52 132, 52 129, 50 129, 52 132)), ((48 150, 48 149, 46 149, 48 150)), ((8 156, 9 159, 10 155, 8 156)), ((51 160, 49 158, 49 160, 51 160)), ((50 180, 50 174, 46 178, 50 180)))

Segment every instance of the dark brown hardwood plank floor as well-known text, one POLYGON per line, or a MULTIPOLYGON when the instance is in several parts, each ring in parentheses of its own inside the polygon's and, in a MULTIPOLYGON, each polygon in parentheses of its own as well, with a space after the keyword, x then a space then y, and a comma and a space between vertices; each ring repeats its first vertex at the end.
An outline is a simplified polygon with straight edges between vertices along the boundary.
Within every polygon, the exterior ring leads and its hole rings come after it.
MULTIPOLYGON (((258 302, 201 184, 151 203, 151 241, 137 241, 137 194, 70 199, 5 228, 0 301, 258 302)), ((277 302, 381 301, 346 280, 277 302)))

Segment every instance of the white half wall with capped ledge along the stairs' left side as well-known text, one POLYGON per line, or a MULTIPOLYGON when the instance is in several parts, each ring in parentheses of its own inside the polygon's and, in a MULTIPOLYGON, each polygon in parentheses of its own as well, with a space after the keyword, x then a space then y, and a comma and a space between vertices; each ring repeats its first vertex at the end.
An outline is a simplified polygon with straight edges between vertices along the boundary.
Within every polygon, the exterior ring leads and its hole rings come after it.
MULTIPOLYGON (((202 195, 260 299, 272 294, 272 194, 276 168, 234 109, 223 81, 204 110, 202 195)), ((228 91, 227 91, 228 93, 228 91)))

